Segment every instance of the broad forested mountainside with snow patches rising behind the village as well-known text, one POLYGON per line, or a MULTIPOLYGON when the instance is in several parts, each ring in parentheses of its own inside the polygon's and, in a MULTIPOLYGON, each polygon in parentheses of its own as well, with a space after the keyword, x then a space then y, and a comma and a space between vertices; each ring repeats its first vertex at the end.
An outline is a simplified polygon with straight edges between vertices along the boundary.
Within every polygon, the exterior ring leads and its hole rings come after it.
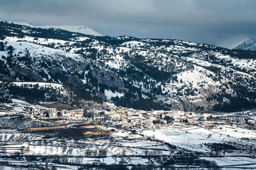
MULTIPOLYGON (((235 111, 256 108, 256 54, 175 39, 90 36, 0 22, 1 96, 12 81, 59 83, 68 97, 100 99, 143 110, 235 111)), ((15 83, 17 84, 17 83, 15 83)), ((33 85, 32 85, 33 86, 33 85)), ((29 85, 22 86, 28 89, 29 85)), ((45 89, 45 87, 43 88, 45 89)), ((50 95, 51 96, 51 95, 50 95)), ((79 99, 73 103, 79 104, 79 99)))

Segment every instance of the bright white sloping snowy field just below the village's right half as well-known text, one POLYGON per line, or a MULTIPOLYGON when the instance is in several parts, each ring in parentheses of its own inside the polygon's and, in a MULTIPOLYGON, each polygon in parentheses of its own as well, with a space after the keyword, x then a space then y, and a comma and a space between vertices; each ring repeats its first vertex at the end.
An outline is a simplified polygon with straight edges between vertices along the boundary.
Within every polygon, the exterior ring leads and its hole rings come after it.
MULTIPOLYGON (((171 143, 172 145, 186 148, 188 150, 198 152, 210 152, 208 148, 202 146, 204 143, 223 143, 236 142, 237 138, 256 138, 254 131, 246 129, 231 129, 228 126, 223 126, 222 129, 205 129, 203 127, 185 125, 175 123, 163 129, 156 129, 154 131, 143 131, 142 134, 152 138, 160 139, 171 143)), ((251 143, 244 141, 244 143, 251 143)))

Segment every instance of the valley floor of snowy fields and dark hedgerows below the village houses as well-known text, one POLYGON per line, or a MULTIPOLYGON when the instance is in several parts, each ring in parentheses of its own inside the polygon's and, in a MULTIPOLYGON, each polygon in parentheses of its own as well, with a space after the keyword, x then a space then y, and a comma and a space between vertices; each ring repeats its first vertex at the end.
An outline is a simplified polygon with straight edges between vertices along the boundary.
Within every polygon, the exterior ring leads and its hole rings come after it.
MULTIPOLYGON (((8 117, 12 122, 13 116, 8 117)), ((100 130, 105 133, 99 134, 90 129, 93 125, 89 120, 60 118, 54 124, 63 126, 51 129, 1 129, 0 167, 256 169, 253 130, 173 122, 159 129, 135 131, 105 126, 100 130), (84 136, 90 133, 97 135, 84 136)))

